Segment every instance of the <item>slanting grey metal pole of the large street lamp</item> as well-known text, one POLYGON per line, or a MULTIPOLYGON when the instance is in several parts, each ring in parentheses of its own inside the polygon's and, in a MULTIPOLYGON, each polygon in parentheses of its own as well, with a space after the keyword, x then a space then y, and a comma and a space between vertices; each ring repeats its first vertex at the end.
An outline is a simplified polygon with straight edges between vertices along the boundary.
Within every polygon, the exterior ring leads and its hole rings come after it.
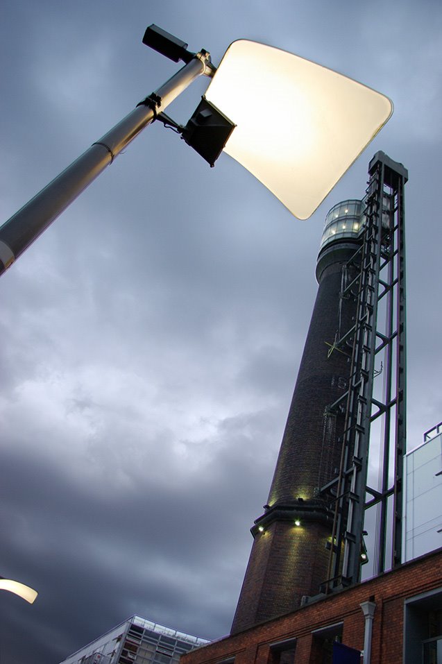
POLYGON ((185 67, 11 216, 0 228, 0 275, 171 101, 202 74, 214 74, 210 54, 205 51, 196 53, 185 67))

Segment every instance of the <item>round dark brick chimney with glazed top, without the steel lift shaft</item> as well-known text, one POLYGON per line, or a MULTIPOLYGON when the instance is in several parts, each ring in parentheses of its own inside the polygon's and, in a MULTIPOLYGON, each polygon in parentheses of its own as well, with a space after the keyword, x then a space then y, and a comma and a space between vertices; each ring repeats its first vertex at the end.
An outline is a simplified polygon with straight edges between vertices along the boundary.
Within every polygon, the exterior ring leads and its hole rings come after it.
POLYGON ((362 201, 343 201, 325 219, 312 321, 268 504, 251 529, 232 634, 294 611, 329 575, 333 505, 321 488, 339 468, 344 415, 330 405, 347 389, 351 356, 351 339, 348 352, 334 342, 354 324, 356 300, 343 291, 360 270, 348 261, 361 241, 362 209, 362 201))

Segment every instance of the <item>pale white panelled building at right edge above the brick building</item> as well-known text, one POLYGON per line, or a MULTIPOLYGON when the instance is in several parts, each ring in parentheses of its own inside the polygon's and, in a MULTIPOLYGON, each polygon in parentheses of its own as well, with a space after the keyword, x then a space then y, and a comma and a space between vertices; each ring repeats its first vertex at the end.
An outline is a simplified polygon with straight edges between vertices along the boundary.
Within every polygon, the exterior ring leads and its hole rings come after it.
POLYGON ((423 443, 405 455, 404 477, 402 551, 406 562, 442 547, 442 423, 427 431, 423 443))

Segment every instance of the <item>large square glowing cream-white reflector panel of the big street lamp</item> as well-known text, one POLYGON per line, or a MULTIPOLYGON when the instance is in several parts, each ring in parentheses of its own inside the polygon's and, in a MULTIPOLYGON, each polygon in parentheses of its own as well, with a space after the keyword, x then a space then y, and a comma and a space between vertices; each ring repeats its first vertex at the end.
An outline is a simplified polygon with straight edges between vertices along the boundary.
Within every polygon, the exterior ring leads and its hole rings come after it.
POLYGON ((393 112, 384 95, 248 40, 230 44, 205 96, 237 126, 224 151, 307 219, 393 112))

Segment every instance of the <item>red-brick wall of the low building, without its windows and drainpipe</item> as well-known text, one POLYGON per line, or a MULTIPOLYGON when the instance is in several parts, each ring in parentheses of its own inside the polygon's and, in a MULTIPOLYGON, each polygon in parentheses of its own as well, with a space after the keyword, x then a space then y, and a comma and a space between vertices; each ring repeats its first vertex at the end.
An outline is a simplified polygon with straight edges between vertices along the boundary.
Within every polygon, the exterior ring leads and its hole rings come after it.
POLYGON ((441 549, 280 618, 213 642, 182 656, 180 664, 217 664, 231 657, 235 657, 235 664, 275 664, 270 645, 287 639, 296 639, 294 664, 317 664, 312 632, 339 622, 343 622, 343 642, 362 650, 364 615, 359 604, 368 599, 376 604, 371 664, 402 664, 405 599, 435 588, 442 588, 441 549))

